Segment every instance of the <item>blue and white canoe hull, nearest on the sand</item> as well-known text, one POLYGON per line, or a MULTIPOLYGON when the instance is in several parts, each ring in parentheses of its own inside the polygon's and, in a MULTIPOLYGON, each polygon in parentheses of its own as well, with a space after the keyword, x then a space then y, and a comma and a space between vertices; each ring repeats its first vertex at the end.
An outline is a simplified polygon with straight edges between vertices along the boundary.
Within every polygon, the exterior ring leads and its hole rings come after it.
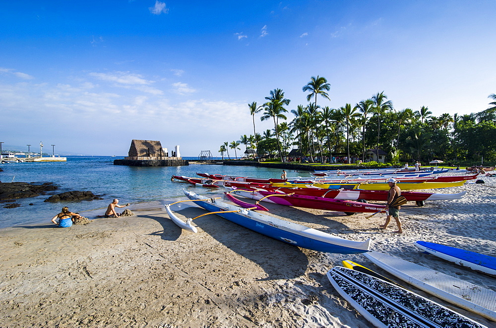
MULTIPOLYGON (((360 254, 370 250, 371 239, 358 242, 288 222, 266 214, 230 205, 218 199, 203 197, 183 190, 186 197, 208 211, 281 242, 324 253, 360 254), (219 213, 220 212, 220 213, 219 213)), ((171 212, 174 216, 174 213, 171 212)), ((171 215, 169 214, 169 215, 171 215)), ((178 219, 179 221, 182 221, 178 219)), ((173 220, 176 222, 175 220, 173 220)), ((182 221, 184 222, 184 221, 182 221)), ((179 225, 183 227, 182 225, 179 225)))

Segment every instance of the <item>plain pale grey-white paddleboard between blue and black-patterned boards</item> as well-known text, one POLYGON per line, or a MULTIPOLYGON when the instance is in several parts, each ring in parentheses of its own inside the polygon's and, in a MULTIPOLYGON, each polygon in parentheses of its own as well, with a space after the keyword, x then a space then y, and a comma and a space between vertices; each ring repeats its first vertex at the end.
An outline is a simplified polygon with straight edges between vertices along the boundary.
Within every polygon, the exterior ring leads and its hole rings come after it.
POLYGON ((492 290, 387 254, 370 251, 364 256, 425 292, 496 321, 496 292, 492 290))

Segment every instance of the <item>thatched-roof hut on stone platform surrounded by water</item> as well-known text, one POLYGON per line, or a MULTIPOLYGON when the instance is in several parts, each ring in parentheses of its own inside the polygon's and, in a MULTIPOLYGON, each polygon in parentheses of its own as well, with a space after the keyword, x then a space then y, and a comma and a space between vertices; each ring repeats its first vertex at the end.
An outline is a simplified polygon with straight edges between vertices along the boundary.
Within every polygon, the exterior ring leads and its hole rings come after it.
POLYGON ((180 157, 179 146, 175 146, 173 156, 169 156, 167 148, 160 141, 131 140, 131 146, 124 159, 114 160, 114 165, 127 166, 182 166, 189 162, 180 157), (179 155, 179 156, 178 156, 179 155))

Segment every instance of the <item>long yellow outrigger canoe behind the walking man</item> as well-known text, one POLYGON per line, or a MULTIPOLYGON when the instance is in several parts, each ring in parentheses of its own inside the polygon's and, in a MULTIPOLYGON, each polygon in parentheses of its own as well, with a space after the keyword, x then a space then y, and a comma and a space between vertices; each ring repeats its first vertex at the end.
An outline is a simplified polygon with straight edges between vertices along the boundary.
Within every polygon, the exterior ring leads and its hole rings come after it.
MULTIPOLYGON (((456 182, 420 182, 420 183, 403 183, 398 182, 396 185, 401 190, 421 190, 421 189, 438 189, 458 187, 463 185, 466 180, 456 182)), ((273 183, 272 187, 284 188, 324 188, 324 189, 363 189, 363 190, 389 190, 387 183, 343 183, 343 184, 290 184, 290 183, 273 183)))

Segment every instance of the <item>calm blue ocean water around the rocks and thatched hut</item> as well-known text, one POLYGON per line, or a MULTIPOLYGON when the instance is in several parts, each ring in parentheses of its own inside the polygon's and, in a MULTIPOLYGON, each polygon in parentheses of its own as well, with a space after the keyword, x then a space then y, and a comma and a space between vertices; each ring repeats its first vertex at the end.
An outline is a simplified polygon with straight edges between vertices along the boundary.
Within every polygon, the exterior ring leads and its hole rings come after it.
MULTIPOLYGON (((184 197, 182 189, 196 190, 198 194, 211 191, 194 187, 184 182, 171 181, 172 175, 197 177, 196 172, 218 173, 223 175, 280 178, 281 170, 257 168, 251 166, 224 166, 190 164, 189 166, 169 167, 132 167, 113 165, 111 156, 68 156, 61 163, 10 163, 1 164, 1 182, 53 182, 60 186, 48 195, 16 199, 20 207, 3 208, 7 203, 0 203, 0 228, 46 221, 59 213, 63 206, 72 212, 102 209, 104 214, 112 199, 119 198, 121 204, 133 205, 146 202, 164 203, 166 199, 184 197), (53 194, 68 191, 91 191, 103 200, 83 200, 78 202, 44 202, 53 194), (32 203, 33 205, 29 205, 32 203)), ((196 160, 196 157, 184 157, 196 160)), ((288 178, 310 176, 309 172, 288 172, 288 178)), ((130 207, 132 210, 132 207, 130 207)))

